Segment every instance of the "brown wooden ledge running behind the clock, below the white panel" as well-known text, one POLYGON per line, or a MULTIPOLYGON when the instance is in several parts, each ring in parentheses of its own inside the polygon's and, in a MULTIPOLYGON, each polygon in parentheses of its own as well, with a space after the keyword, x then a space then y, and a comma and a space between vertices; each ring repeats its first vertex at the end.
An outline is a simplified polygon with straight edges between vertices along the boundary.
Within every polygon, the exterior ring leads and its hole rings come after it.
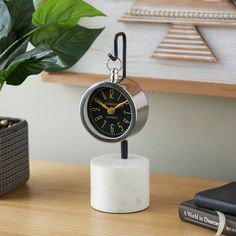
MULTIPOLYGON (((68 85, 90 86, 107 78, 106 75, 82 73, 47 73, 42 74, 43 81, 68 85)), ((145 91, 165 93, 183 93, 194 95, 220 96, 236 98, 236 84, 194 82, 170 79, 151 79, 145 77, 129 77, 134 79, 145 91)))

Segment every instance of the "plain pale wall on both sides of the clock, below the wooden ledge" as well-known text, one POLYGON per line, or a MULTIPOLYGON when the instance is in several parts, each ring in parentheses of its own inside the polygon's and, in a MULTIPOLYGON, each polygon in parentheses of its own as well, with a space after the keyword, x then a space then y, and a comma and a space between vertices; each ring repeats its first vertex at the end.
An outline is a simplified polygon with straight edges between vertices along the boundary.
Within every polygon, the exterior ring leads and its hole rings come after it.
MULTIPOLYGON (((43 83, 38 76, 20 87, 5 86, 0 114, 29 122, 30 157, 88 164, 118 144, 101 143, 83 128, 79 101, 85 88, 43 83)), ((130 151, 151 160, 153 171, 236 178, 236 100, 148 93, 150 116, 130 139, 130 151)))

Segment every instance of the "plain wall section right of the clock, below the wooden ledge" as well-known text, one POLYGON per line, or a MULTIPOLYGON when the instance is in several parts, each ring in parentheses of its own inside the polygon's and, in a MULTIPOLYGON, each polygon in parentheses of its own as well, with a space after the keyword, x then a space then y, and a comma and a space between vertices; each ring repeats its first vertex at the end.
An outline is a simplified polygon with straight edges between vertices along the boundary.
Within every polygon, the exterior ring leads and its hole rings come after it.
POLYGON ((149 120, 130 146, 150 157, 152 171, 235 179, 236 100, 164 93, 148 97, 149 120))

